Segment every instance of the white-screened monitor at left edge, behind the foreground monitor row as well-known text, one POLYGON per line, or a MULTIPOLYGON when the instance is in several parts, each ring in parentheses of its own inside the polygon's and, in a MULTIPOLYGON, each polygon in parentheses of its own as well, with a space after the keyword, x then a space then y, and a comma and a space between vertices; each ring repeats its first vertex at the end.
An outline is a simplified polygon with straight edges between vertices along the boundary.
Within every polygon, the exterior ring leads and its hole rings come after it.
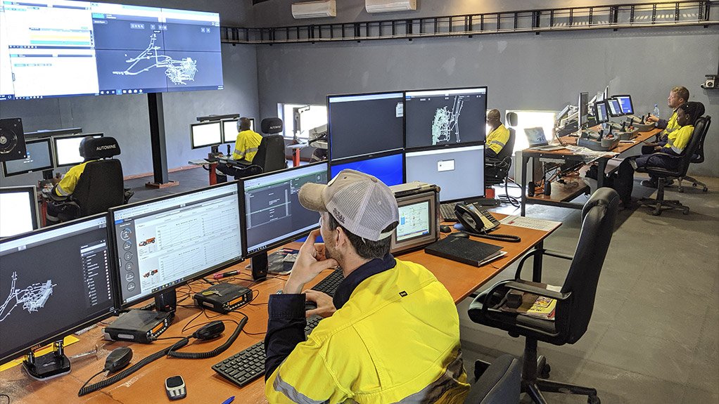
POLYGON ((0 188, 0 238, 36 230, 40 227, 38 223, 37 190, 34 185, 0 188))

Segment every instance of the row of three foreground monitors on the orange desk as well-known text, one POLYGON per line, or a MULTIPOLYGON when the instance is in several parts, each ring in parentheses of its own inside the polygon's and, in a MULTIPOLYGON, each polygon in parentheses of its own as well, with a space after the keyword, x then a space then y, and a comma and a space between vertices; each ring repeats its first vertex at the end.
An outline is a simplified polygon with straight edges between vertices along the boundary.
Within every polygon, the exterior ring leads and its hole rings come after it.
MULTIPOLYGON (((0 291, 0 363, 152 297, 157 311, 142 312, 162 317, 175 309, 175 288, 244 258, 262 278, 267 250, 319 227, 298 192, 327 177, 326 162, 310 164, 0 240, 0 279, 9 286, 0 291)), ((40 367, 56 366, 43 363, 29 354, 25 367, 47 377, 40 367)))

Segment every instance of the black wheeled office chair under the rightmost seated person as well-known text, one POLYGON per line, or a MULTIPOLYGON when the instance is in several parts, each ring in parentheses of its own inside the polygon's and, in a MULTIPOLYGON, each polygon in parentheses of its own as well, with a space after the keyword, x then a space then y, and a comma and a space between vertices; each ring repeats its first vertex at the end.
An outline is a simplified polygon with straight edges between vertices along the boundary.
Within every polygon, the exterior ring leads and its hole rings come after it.
MULTIPOLYGON (((682 205, 679 200, 664 199, 664 187, 666 187, 666 182, 669 179, 680 179, 687 176, 687 169, 689 169, 689 164, 692 162, 692 159, 697 153, 699 145, 704 143, 704 138, 705 136, 707 136, 707 131, 709 130, 709 126, 711 123, 712 118, 710 116, 702 116, 700 118, 697 118, 694 123, 694 131, 692 132, 692 138, 690 139, 689 144, 687 145, 687 148, 684 150, 684 153, 682 155, 669 156, 665 153, 656 153, 657 156, 661 155, 662 159, 676 159, 676 169, 664 169, 658 166, 651 166, 651 156, 649 157, 649 160, 647 160, 647 164, 645 166, 641 166, 636 169, 636 172, 646 172, 652 177, 656 177, 657 179, 656 198, 645 197, 639 199, 639 203, 642 206, 654 208, 654 210, 651 211, 652 215, 658 216, 661 215, 661 212, 663 210, 671 209, 681 209, 684 215, 689 214, 689 207, 682 205)), ((655 154, 653 154, 652 156, 654 155, 655 154)))

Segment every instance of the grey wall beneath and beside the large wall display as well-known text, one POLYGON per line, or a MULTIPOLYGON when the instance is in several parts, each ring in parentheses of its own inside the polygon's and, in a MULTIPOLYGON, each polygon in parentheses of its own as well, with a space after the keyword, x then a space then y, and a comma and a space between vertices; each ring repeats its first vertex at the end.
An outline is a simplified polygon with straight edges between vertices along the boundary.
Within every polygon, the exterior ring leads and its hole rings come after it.
MULTIPOLYGON (((168 168, 186 166, 188 160, 207 156, 209 149, 190 148, 190 124, 196 122, 197 116, 223 113, 258 116, 255 46, 223 44, 222 71, 224 90, 163 95, 168 168)), ((11 117, 22 118, 26 132, 73 127, 81 127, 85 132, 104 132, 119 142, 122 149, 119 159, 126 176, 152 172, 146 95, 1 101, 0 118, 11 117)), ((40 173, 0 177, 0 185, 34 184, 41 178, 40 173)))

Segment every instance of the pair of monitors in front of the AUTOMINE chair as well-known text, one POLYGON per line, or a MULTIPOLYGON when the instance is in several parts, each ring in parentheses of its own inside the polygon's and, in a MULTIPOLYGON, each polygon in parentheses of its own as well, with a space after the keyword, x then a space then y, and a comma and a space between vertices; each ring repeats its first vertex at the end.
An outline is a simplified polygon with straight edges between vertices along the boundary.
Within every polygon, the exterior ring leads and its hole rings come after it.
POLYGON ((74 166, 83 162, 83 157, 80 155, 80 143, 83 138, 103 136, 103 133, 82 133, 81 128, 55 132, 26 133, 27 155, 24 159, 3 161, 4 176, 44 172, 45 177, 48 175, 52 177, 52 169, 74 166))

